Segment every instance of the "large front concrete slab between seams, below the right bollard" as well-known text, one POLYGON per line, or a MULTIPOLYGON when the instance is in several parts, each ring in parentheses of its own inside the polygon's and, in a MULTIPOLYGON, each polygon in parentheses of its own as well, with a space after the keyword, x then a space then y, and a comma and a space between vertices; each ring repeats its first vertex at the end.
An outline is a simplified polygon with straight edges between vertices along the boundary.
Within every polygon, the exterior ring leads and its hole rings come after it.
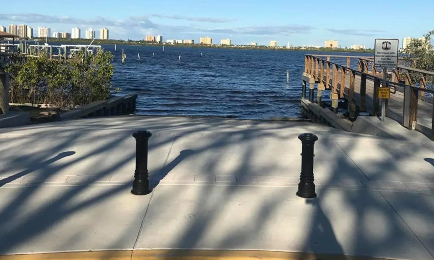
POLYGON ((374 191, 159 186, 136 249, 283 250, 432 259, 374 191))

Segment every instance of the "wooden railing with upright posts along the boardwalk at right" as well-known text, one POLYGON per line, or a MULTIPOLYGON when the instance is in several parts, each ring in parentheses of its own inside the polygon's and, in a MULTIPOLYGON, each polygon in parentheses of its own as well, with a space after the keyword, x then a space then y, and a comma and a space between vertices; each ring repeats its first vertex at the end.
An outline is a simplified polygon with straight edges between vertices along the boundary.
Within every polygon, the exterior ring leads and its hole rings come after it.
MULTIPOLYGON (((382 86, 382 71, 373 66, 372 57, 305 55, 304 72, 314 80, 310 81, 311 91, 314 85, 312 82, 318 83, 318 90, 330 89, 330 97, 332 101, 338 98, 346 98, 349 103, 355 104, 360 108, 360 110, 367 111, 373 116, 379 115, 378 88, 382 86), (345 81, 347 80, 349 82, 345 84, 345 81), (347 86, 346 89, 345 86, 347 86), (369 86, 368 91, 372 91, 371 95, 366 94, 367 86, 369 86), (355 88, 359 90, 358 93, 355 93, 355 88)), ((431 126, 429 126, 430 133, 427 134, 427 131, 423 132, 434 140, 433 102, 432 98, 424 98, 427 93, 431 96, 434 94, 432 89, 425 88, 426 77, 431 75, 434 76, 434 72, 421 71, 414 68, 400 66, 388 71, 388 78, 390 78, 390 80, 387 81, 387 86, 394 89, 392 93, 394 93, 394 91, 400 91, 402 92, 401 95, 404 95, 404 101, 402 104, 402 120, 400 122, 404 127, 408 127, 411 130, 418 128, 418 102, 420 99, 423 100, 421 102, 431 105, 432 111, 430 119, 432 120, 432 123, 431 126), (411 77, 408 73, 406 75, 405 71, 419 73, 422 77, 421 86, 423 85, 424 87, 422 88, 411 85, 411 83, 413 83, 411 77)), ((306 98, 305 88, 306 82, 303 82, 302 98, 306 98)), ((392 95, 392 97, 395 96, 392 95)), ((309 100, 313 102, 313 97, 309 96, 309 100)), ((335 104, 337 103, 335 102, 335 104)), ((337 109, 335 111, 337 111, 337 109)), ((395 118, 395 120, 398 119, 395 118)))

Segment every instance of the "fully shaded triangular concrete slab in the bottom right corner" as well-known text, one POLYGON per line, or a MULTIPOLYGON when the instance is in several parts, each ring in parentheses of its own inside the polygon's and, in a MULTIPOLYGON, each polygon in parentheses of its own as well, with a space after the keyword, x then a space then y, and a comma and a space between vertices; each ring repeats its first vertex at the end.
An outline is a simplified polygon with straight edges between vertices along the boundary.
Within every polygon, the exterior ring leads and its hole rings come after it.
POLYGON ((434 194, 381 193, 434 255, 434 194))

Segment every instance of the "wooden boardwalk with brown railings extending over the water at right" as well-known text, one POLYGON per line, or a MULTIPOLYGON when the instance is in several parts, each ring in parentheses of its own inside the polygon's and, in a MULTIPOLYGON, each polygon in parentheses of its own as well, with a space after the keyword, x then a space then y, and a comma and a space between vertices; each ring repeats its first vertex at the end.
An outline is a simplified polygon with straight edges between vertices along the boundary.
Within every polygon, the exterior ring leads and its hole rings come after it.
MULTIPOLYGON (((370 60, 367 58, 345 56, 345 60, 345 65, 342 65, 342 62, 340 62, 341 64, 338 61, 330 62, 330 56, 325 59, 319 56, 306 55, 304 76, 309 77, 307 88, 315 88, 316 84, 316 92, 318 92, 318 89, 321 89, 319 86, 322 86, 322 88, 330 89, 332 93, 336 93, 336 99, 338 97, 345 98, 350 103, 354 102, 361 111, 366 111, 374 116, 379 115, 381 102, 377 98, 376 89, 382 87, 382 73, 377 73, 372 64, 369 67, 368 62, 370 60), (355 58, 358 59, 357 69, 352 68, 350 64, 351 59, 355 58), (341 85, 344 85, 344 88, 341 88, 341 85)), ((398 71, 399 69, 398 67, 396 70, 389 71, 388 85, 395 88, 396 92, 393 93, 392 88, 390 99, 387 101, 386 116, 405 127, 418 130, 434 140, 433 99, 425 96, 426 93, 433 93, 433 91, 410 85, 411 77, 408 76, 409 74, 404 74, 404 72, 398 71), (400 80, 402 75, 406 76, 404 81, 400 80), (404 93, 408 94, 406 102, 404 101, 404 93)), ((414 71, 422 73, 423 76, 432 73, 430 71, 414 71)), ((306 86, 307 82, 304 80, 303 84, 306 86)), ((421 85, 422 83, 426 85, 426 79, 422 78, 421 85)))

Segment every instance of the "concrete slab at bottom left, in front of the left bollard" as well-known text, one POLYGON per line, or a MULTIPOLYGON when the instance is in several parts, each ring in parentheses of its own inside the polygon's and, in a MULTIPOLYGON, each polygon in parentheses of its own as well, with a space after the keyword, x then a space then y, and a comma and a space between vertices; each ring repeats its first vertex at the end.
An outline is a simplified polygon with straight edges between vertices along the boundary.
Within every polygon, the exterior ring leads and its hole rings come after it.
POLYGON ((0 189, 0 254, 131 250, 150 196, 130 189, 0 189))

